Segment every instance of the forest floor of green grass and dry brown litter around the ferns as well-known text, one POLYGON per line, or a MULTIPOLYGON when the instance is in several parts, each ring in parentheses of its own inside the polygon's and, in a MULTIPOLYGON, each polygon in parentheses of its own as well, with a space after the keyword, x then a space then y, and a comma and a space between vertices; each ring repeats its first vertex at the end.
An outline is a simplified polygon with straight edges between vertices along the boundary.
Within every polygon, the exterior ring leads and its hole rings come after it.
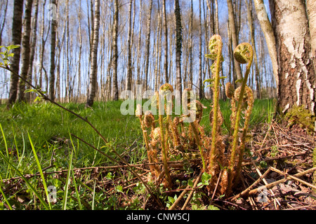
MULTIPOLYGON (((186 163, 178 155, 171 157, 173 189, 148 181, 139 120, 121 115, 121 102, 97 102, 92 109, 63 104, 88 118, 107 144, 86 123, 52 104, 15 104, 10 111, 1 106, 0 209, 164 210, 174 202, 176 210, 316 209, 315 133, 272 119, 276 117, 272 102, 254 104, 241 181, 231 195, 208 193, 202 182, 193 186, 201 170, 199 157, 186 163), (52 203, 46 200, 48 186, 55 189, 48 195, 55 200, 52 203), (185 196, 177 200, 183 192, 185 196)), ((228 130, 229 105, 220 102, 223 132, 228 130)), ((211 130, 206 128, 209 110, 201 122, 206 134, 211 130)))

